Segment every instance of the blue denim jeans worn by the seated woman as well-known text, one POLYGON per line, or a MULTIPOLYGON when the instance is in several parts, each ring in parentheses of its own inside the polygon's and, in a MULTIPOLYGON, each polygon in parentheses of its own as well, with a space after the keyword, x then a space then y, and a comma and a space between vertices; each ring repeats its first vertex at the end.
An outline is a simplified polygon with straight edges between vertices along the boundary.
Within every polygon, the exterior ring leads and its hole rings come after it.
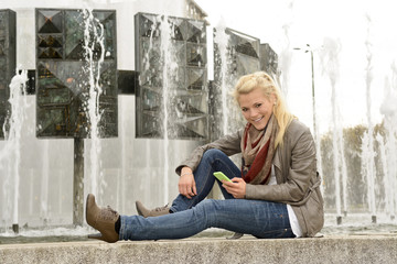
POLYGON ((197 195, 192 199, 179 195, 170 215, 149 218, 121 216, 119 239, 183 239, 207 228, 222 228, 261 239, 294 237, 285 204, 234 199, 222 186, 225 200, 204 199, 217 180, 213 176, 217 170, 229 178, 240 177, 238 167, 223 152, 206 151, 194 172, 197 195))

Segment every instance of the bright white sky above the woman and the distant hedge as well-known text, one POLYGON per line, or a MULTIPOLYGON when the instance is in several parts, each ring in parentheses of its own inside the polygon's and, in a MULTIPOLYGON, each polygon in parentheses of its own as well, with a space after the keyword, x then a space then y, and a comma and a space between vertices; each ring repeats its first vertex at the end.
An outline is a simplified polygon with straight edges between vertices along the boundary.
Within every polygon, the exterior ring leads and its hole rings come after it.
MULTIPOLYGON (((226 26, 269 43, 279 55, 292 113, 312 127, 313 52, 318 128, 382 122, 384 89, 397 58, 393 0, 196 0, 211 26, 226 26), (331 76, 331 77, 330 77, 331 76), (367 78, 371 77, 371 78, 367 78), (371 79, 371 81, 369 81, 371 79), (332 103, 332 91, 335 95, 332 103), (369 100, 367 100, 367 98, 369 100), (369 105, 367 103, 369 102, 369 105), (333 113, 332 109, 335 106, 333 113), (371 112, 371 114, 368 114, 371 112), (337 123, 332 116, 336 114, 337 123)), ((397 103, 397 102, 396 102, 397 103)))

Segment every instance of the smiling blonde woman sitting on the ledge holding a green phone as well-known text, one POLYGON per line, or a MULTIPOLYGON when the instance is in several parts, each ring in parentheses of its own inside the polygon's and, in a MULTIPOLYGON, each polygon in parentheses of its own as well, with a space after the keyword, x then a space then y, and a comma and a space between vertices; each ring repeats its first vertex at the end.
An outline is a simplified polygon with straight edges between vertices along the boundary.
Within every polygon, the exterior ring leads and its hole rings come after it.
POLYGON ((170 208, 119 216, 88 195, 87 223, 107 242, 182 239, 207 228, 256 238, 313 237, 323 227, 315 146, 309 129, 287 110, 280 89, 262 72, 243 76, 234 90, 247 124, 197 147, 176 168, 180 195, 170 208), (229 155, 242 153, 242 168, 229 155), (232 182, 219 183, 214 172, 232 182), (205 199, 215 182, 224 200, 205 199))

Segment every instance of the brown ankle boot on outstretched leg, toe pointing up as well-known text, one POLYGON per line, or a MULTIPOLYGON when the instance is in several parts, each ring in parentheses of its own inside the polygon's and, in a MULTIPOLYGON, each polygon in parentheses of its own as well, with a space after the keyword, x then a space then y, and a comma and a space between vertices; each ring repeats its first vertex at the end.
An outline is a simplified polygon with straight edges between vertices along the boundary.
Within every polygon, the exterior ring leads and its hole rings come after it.
POLYGON ((99 208, 95 202, 95 196, 89 194, 86 201, 86 220, 89 226, 100 232, 100 234, 89 234, 89 239, 98 239, 109 243, 119 240, 119 234, 115 230, 115 223, 119 213, 110 207, 99 208))

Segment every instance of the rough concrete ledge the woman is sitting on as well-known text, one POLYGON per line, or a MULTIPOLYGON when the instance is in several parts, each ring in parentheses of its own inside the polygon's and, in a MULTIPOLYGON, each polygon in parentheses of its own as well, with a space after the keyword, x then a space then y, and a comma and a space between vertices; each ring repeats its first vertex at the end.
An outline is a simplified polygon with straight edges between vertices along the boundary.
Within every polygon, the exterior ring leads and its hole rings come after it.
POLYGON ((0 245, 1 263, 396 263, 397 235, 0 245))

